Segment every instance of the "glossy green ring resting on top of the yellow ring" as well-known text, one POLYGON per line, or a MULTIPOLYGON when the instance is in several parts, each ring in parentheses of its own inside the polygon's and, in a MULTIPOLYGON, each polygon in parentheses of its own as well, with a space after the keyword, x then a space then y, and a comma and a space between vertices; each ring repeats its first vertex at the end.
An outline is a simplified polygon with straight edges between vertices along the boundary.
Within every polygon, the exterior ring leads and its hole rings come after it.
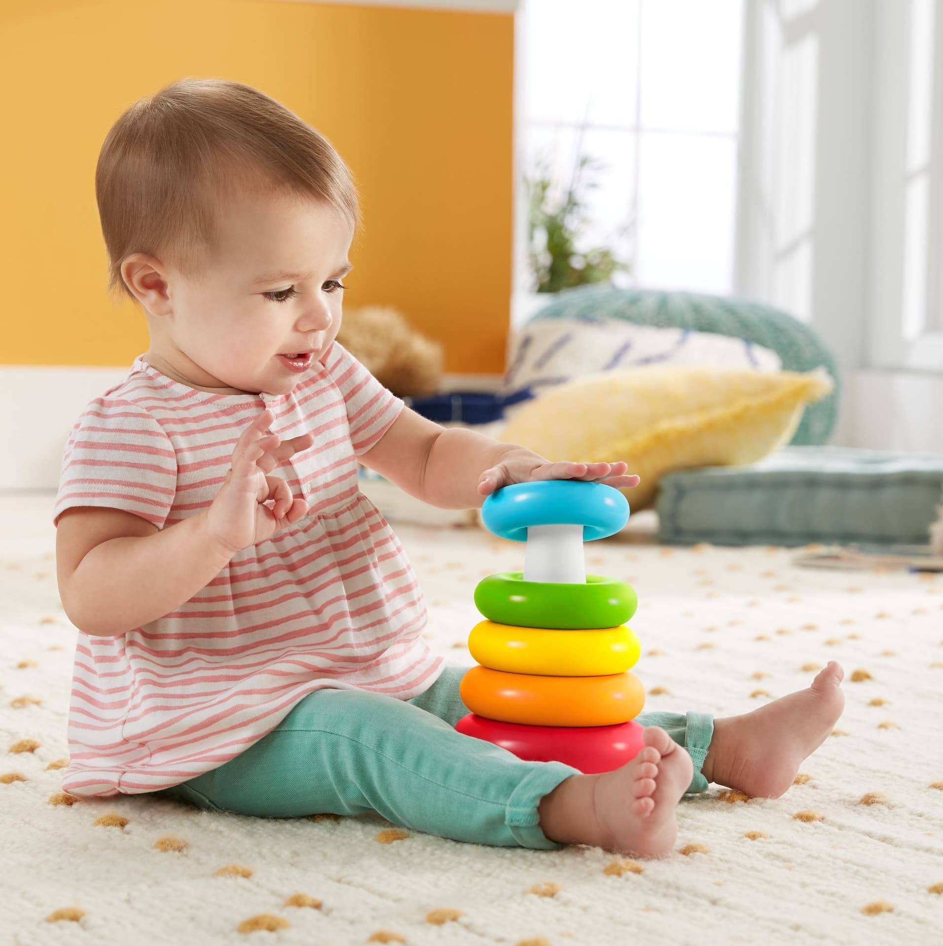
POLYGON ((474 603, 499 624, 589 631, 629 621, 638 599, 628 582, 604 575, 587 575, 578 585, 525 582, 521 571, 502 571, 478 583, 474 603))

